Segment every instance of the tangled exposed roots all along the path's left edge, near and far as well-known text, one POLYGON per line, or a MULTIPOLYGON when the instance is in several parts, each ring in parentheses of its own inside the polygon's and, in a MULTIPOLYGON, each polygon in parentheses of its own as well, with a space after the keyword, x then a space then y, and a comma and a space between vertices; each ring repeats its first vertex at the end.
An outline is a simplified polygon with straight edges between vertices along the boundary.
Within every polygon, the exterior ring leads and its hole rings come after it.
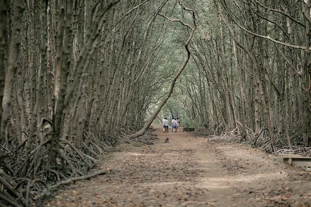
MULTIPOLYGON (((133 130, 134 131, 134 130, 133 130)), ((131 133, 131 132, 130 132, 131 133)), ((147 132, 137 138, 129 138, 129 133, 121 133, 119 142, 153 144, 156 135, 147 132)), ((9 158, 2 164, 7 172, 0 169, 0 207, 29 206, 40 201, 45 195, 51 194, 61 185, 83 179, 89 179, 96 175, 106 174, 107 170, 99 170, 85 175, 99 162, 102 154, 111 151, 120 151, 115 147, 107 147, 101 143, 95 143, 94 135, 86 133, 90 139, 82 142, 82 149, 75 147, 69 140, 60 139, 59 148, 52 149, 51 134, 35 133, 32 139, 27 139, 14 149, 7 150, 9 158), (38 137, 39 136, 39 137, 38 137), (31 151, 26 158, 24 153, 26 143, 31 143, 31 151), (55 155, 54 165, 47 165, 51 150, 55 155), (83 151, 82 151, 83 150, 83 151), (27 161, 26 161, 27 159, 27 161), (28 164, 27 164, 28 163, 28 164), (26 177, 22 176, 22 169, 27 169, 26 177), (77 176, 78 175, 78 176, 77 176), (13 179, 12 177, 16 177, 13 179), (52 186, 51 186, 52 185, 52 186), (49 187, 50 186, 50 187, 49 187), (2 199, 3 198, 3 199, 2 199)))

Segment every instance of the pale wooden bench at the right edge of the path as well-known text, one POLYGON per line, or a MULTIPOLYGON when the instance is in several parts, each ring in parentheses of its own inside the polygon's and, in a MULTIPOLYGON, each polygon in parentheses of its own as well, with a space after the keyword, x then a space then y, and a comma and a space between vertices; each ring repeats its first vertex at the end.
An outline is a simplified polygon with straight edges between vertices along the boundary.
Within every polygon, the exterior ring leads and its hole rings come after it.
POLYGON ((278 154, 278 159, 281 162, 291 166, 311 167, 311 157, 302 157, 300 155, 278 154))

